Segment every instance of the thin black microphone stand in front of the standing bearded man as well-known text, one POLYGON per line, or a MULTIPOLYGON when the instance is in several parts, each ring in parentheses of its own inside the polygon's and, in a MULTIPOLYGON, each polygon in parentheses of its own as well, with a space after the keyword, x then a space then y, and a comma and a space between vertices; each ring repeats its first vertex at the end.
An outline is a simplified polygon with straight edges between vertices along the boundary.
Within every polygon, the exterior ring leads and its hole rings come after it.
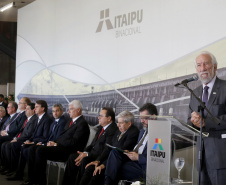
POLYGON ((202 123, 203 123, 203 118, 204 118, 204 110, 206 110, 206 112, 208 112, 208 114, 210 115, 210 117, 214 120, 214 122, 216 124, 220 124, 220 122, 217 120, 217 118, 207 109, 207 107, 205 106, 205 103, 202 102, 202 100, 196 96, 196 94, 188 87, 187 83, 182 83, 182 85, 184 85, 184 87, 186 87, 186 89, 188 89, 191 94, 195 97, 195 99, 200 103, 200 105, 198 106, 198 112, 201 112, 201 124, 200 124, 200 147, 199 147, 199 153, 198 153, 198 160, 199 160, 199 185, 201 183, 201 164, 202 164, 202 123))

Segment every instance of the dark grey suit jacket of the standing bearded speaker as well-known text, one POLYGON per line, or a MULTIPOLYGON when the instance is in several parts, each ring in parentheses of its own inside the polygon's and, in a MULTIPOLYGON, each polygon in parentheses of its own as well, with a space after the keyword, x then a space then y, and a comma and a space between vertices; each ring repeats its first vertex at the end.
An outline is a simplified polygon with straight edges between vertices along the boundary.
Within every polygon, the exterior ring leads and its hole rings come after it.
MULTIPOLYGON (((194 93, 202 99, 202 91, 202 86, 199 86, 194 90, 194 93)), ((190 125, 192 125, 191 113, 198 112, 198 106, 197 100, 191 96, 188 115, 188 124, 190 125)), ((205 127, 203 128, 203 131, 209 132, 209 137, 203 138, 206 167, 207 169, 226 168, 226 139, 222 138, 222 134, 226 134, 226 81, 216 78, 207 108, 220 124, 216 124, 208 114, 206 115, 205 127)))

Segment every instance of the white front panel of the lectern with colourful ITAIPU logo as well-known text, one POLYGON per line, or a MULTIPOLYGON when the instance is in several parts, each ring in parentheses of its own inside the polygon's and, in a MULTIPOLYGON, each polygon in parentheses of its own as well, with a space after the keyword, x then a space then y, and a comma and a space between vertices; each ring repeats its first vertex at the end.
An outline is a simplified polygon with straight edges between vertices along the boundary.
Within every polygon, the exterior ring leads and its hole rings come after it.
POLYGON ((170 178, 170 121, 150 120, 146 184, 169 184, 170 178))

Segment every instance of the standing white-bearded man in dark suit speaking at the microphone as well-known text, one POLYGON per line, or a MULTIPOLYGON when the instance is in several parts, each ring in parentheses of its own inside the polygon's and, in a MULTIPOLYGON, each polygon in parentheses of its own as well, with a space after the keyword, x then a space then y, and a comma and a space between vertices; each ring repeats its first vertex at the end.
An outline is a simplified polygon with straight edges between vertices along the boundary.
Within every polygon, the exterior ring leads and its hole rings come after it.
MULTIPOLYGON (((202 52, 196 57, 195 66, 202 85, 194 93, 205 102, 219 124, 204 111, 203 131, 209 137, 203 138, 201 184, 224 185, 226 182, 226 81, 216 77, 217 61, 213 54, 202 52)), ((191 96, 188 124, 200 128, 201 116, 198 101, 191 96)), ((199 145, 199 144, 198 144, 199 145)))

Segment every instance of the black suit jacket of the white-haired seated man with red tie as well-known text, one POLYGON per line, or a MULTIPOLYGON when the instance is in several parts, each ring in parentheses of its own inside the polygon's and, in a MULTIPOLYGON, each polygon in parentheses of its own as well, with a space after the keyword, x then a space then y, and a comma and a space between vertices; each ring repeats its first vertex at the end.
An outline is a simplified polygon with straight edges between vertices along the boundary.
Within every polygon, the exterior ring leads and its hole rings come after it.
POLYGON ((55 142, 57 146, 64 147, 69 153, 83 151, 89 139, 89 125, 83 116, 69 127, 70 122, 71 119, 55 142))

